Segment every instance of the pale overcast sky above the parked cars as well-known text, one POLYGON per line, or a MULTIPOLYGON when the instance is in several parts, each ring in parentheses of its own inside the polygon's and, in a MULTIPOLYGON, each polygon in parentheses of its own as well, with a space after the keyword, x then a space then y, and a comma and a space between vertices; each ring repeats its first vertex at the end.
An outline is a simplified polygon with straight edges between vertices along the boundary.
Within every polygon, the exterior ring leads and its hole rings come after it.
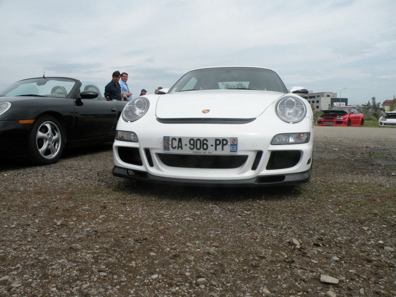
POLYGON ((275 70, 349 103, 396 95, 395 0, 0 0, 0 89, 67 76, 134 96, 207 66, 275 70))

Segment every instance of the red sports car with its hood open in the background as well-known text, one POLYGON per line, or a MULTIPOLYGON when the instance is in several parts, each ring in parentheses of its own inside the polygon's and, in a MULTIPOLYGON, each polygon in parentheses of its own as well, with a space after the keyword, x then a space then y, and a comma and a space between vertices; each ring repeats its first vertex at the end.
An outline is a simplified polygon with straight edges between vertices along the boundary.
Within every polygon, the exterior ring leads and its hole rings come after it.
POLYGON ((322 110, 318 117, 318 126, 363 126, 363 113, 353 106, 336 106, 322 110))

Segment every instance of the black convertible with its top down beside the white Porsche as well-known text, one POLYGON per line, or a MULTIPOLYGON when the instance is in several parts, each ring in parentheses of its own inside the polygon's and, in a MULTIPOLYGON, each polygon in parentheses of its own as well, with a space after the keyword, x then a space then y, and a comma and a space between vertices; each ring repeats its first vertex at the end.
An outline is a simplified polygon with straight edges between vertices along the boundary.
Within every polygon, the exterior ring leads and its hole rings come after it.
POLYGON ((106 100, 98 86, 67 77, 18 81, 0 92, 0 156, 55 163, 64 148, 113 142, 126 101, 106 100))

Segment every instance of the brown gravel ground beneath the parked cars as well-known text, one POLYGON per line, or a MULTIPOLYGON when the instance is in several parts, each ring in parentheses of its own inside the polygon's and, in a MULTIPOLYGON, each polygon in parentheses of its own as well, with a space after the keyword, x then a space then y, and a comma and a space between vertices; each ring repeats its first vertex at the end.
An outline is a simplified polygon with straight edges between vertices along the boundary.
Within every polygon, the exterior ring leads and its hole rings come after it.
POLYGON ((396 130, 315 127, 296 187, 140 185, 111 146, 0 165, 0 296, 396 296, 396 130))

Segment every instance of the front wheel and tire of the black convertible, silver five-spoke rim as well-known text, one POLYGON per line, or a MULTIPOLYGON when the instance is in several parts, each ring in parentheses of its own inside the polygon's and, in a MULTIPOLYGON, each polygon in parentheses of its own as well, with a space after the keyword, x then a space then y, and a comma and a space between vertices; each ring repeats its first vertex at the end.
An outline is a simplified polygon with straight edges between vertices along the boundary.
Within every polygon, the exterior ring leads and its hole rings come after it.
POLYGON ((28 158, 32 164, 56 163, 62 155, 66 135, 59 121, 53 116, 38 118, 28 139, 28 158))

